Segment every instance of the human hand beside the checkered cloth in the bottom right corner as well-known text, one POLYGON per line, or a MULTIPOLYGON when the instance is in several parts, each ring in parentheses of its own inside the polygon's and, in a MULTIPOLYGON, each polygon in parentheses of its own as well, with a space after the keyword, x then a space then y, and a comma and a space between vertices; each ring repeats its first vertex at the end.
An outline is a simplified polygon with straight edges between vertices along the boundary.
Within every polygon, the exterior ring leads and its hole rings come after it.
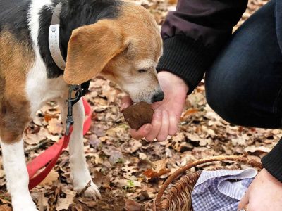
POLYGON ((245 211, 281 211, 282 210, 282 183, 263 169, 252 184, 245 196, 241 199, 238 210, 245 211))

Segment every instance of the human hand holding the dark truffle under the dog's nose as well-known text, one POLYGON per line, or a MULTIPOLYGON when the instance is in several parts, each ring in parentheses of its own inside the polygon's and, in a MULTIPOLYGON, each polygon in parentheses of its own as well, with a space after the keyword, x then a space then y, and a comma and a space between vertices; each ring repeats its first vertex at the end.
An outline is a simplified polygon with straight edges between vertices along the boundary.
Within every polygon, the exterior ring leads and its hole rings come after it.
MULTIPOLYGON (((188 86, 183 79, 171 72, 158 73, 159 84, 164 91, 164 100, 152 104, 154 116, 151 124, 145 124, 140 129, 131 130, 134 139, 145 137, 147 141, 166 140, 168 135, 176 134, 178 122, 185 105, 188 86)), ((129 96, 122 101, 121 110, 130 106, 133 102, 129 96)))

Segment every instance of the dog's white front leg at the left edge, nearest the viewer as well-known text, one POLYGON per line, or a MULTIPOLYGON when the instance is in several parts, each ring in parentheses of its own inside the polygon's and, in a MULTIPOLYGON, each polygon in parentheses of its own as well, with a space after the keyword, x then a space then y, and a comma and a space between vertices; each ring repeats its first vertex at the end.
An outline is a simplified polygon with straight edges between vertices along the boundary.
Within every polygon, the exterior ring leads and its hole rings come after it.
POLYGON ((16 143, 1 140, 3 165, 6 173, 6 185, 11 194, 13 211, 35 211, 28 191, 28 173, 23 151, 23 138, 16 143))

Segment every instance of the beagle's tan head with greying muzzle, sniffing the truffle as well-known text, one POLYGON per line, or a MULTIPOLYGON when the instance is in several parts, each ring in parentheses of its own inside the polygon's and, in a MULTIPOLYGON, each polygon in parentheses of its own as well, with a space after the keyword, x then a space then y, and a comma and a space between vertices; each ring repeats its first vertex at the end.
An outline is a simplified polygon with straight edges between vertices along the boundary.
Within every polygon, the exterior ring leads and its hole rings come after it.
POLYGON ((155 69, 161 52, 161 36, 152 15, 142 6, 123 3, 118 17, 73 30, 64 79, 81 84, 101 74, 135 102, 161 101, 164 93, 155 69))

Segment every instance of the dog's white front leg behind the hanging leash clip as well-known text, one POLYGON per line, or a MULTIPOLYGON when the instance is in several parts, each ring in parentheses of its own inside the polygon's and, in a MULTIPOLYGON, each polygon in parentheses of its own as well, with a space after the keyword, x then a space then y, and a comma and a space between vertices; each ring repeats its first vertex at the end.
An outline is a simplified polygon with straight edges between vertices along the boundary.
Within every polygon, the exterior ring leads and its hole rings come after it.
MULTIPOLYGON (((61 101, 61 117, 66 126, 66 103, 61 101)), ((71 134, 71 141, 69 144, 70 149, 70 166, 71 166, 71 177, 73 179, 73 188, 75 191, 81 191, 90 181, 90 187, 85 191, 87 197, 100 197, 97 186, 93 183, 90 172, 87 167, 85 159, 84 145, 83 145, 83 122, 84 122, 84 108, 82 99, 75 103, 73 106, 73 133, 71 134)), ((65 127, 66 128, 66 127, 65 127)))

